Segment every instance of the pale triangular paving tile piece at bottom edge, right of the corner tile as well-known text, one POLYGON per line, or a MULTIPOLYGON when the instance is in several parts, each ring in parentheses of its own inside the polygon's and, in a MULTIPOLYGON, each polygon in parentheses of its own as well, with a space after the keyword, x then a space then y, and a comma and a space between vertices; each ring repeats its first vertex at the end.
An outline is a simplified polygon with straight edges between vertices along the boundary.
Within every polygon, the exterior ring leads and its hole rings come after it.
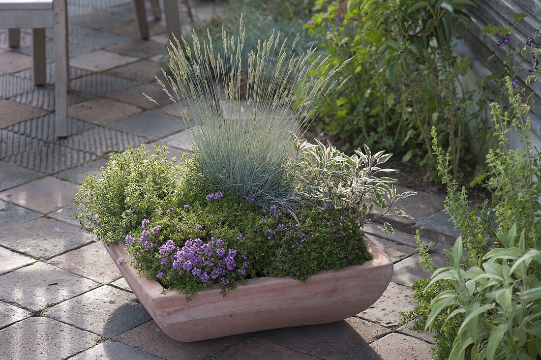
POLYGON ((112 340, 104 341, 101 344, 94 346, 74 357, 70 357, 71 360, 96 360, 96 359, 110 359, 110 360, 160 360, 159 357, 150 355, 147 352, 132 348, 123 343, 119 343, 112 340))

